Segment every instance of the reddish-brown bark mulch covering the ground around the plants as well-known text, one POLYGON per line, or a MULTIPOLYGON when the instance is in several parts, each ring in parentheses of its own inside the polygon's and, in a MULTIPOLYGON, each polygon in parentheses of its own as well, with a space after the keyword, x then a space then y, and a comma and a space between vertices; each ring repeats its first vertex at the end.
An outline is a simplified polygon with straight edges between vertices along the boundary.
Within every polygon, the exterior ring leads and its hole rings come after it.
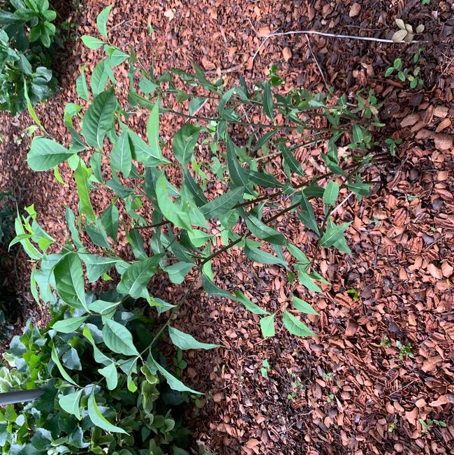
MULTIPOLYGON (((75 24, 71 34, 80 36, 96 33, 96 15, 108 2, 80 1, 77 10, 62 4, 61 15, 75 24)), ((325 78, 339 93, 374 89, 387 133, 403 140, 397 157, 369 167, 372 195, 361 202, 351 198, 337 212, 339 219, 353 220, 348 231, 353 254, 330 253, 318 261, 335 284, 323 296, 298 289, 321 314, 311 319, 318 337, 297 339, 279 330, 276 338, 263 340, 258 321, 243 308, 193 291, 180 328, 229 348, 186 357, 186 381, 207 392, 205 406, 191 419, 207 449, 219 454, 452 453, 454 10, 448 1, 431 6, 419 0, 116 1, 113 41, 132 42, 145 62, 154 58, 159 71, 189 68, 195 61, 213 75, 254 80, 277 64, 288 85, 323 89, 325 78), (383 78, 395 57, 411 65, 418 45, 279 36, 252 58, 270 31, 390 38, 396 17, 413 27, 425 24, 418 36, 427 41, 425 85, 419 89, 383 78), (155 29, 152 37, 148 24, 155 29), (357 300, 346 293, 349 289, 356 289, 357 300), (400 359, 397 342, 410 344, 413 357, 400 359), (263 359, 270 363, 268 378, 260 372, 263 359), (419 419, 437 419, 446 427, 434 424, 424 432, 419 419)), ((66 140, 64 105, 77 100, 78 68, 92 67, 97 57, 73 40, 58 56, 61 91, 38 108, 38 115, 61 140, 66 140)), ((27 115, 1 116, 0 189, 13 187, 22 204, 35 203, 40 221, 62 239, 63 206, 75 206, 75 187, 60 185, 51 173, 29 170, 29 140, 22 133, 29 124, 27 115)), ((172 127, 164 124, 164 138, 172 127)), ((299 157, 309 175, 319 171, 316 154, 308 150, 299 157)), ((291 222, 286 233, 305 250, 313 248, 313 239, 291 222)), ((19 253, 15 265, 17 276, 10 278, 23 289, 29 263, 19 253)), ((277 268, 246 262, 235 250, 214 266, 218 284, 244 289, 268 310, 286 301, 289 285, 277 268)), ((156 295, 172 301, 169 289, 166 281, 154 282, 156 295)), ((41 317, 27 292, 22 300, 24 317, 41 317)))

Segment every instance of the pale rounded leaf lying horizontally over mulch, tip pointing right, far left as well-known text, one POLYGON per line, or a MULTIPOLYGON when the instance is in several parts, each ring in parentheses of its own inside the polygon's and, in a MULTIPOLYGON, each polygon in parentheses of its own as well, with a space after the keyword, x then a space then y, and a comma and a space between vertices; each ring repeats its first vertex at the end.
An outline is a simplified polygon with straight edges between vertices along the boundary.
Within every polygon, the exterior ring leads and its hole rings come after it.
POLYGON ((27 163, 33 171, 48 171, 72 157, 73 154, 74 152, 63 145, 37 136, 31 141, 30 151, 27 154, 27 163))

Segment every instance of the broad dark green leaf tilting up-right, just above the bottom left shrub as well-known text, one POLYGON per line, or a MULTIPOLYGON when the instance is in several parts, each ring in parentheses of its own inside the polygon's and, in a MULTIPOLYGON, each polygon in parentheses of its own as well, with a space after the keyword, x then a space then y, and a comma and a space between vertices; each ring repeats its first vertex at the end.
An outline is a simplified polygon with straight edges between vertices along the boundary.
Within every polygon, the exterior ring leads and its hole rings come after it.
POLYGON ((162 254, 133 263, 126 269, 122 280, 117 284, 117 291, 120 294, 129 294, 132 298, 140 298, 143 289, 147 288, 149 280, 156 272, 162 254))

